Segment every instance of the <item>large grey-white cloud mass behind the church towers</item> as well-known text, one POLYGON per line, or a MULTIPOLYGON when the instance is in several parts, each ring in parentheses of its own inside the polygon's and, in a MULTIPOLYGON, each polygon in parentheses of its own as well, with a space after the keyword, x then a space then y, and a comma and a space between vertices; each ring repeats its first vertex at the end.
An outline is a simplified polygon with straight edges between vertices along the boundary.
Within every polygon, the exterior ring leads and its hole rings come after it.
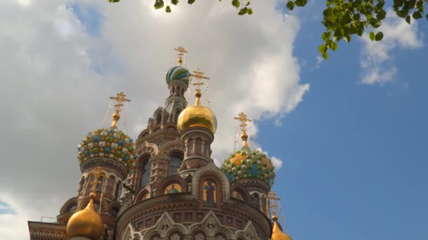
POLYGON ((234 147, 233 116, 284 116, 309 89, 292 52, 298 19, 275 11, 275 0, 255 1, 251 17, 238 16, 227 2, 182 3, 167 14, 153 10, 151 1, 66 1, 101 11, 105 22, 96 37, 56 0, 21 2, 0 1, 0 72, 10 102, 0 117, 11 119, 8 142, 0 145, 2 169, 8 169, 0 181, 1 194, 18 211, 5 226, 23 235, 0 229, 1 239, 28 239, 25 220, 57 215, 75 194, 75 146, 101 125, 108 96, 123 91, 132 99, 127 129, 137 136, 168 96, 164 74, 176 46, 189 50, 189 69, 212 78, 210 102, 219 123, 212 148, 220 161, 234 147))

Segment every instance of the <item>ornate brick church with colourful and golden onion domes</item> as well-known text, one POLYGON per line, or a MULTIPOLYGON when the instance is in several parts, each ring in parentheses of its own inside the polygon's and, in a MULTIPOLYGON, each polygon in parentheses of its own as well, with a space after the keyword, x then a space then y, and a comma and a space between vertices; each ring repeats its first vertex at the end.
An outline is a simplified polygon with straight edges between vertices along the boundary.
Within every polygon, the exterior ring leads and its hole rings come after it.
MULTIPOLYGON (((118 128, 124 93, 113 123, 90 131, 78 147, 82 175, 75 196, 56 222, 28 221, 30 239, 70 240, 289 240, 277 216, 272 161, 248 147, 248 119, 240 113, 241 147, 215 166, 211 143, 215 113, 201 104, 199 69, 177 65, 165 75, 170 95, 137 140, 118 128), (185 97, 194 86, 195 104, 185 97)), ((231 121, 233 116, 231 116, 231 121)), ((220 126, 221 127, 221 126, 220 126)))

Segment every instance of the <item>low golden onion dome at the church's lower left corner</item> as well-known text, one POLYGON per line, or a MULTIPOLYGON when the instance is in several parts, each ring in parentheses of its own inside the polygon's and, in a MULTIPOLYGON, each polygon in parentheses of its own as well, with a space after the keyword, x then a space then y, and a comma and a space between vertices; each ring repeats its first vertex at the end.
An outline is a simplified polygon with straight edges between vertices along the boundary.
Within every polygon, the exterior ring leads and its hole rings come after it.
POLYGON ((73 214, 68 220, 67 235, 84 236, 89 239, 99 239, 103 234, 103 220, 94 209, 94 199, 96 194, 92 192, 89 197, 90 201, 86 208, 73 214))

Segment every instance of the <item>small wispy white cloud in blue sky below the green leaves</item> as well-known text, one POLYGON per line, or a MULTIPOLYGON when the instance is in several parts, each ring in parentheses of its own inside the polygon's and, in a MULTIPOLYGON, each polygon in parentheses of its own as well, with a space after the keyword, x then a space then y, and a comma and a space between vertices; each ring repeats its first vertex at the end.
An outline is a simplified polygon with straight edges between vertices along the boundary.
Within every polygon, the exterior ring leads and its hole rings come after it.
POLYGON ((408 25, 394 11, 387 11, 387 18, 377 30, 384 33, 382 41, 371 41, 367 34, 363 36, 364 48, 360 60, 363 84, 383 85, 394 79, 397 72, 391 55, 394 49, 422 47, 422 40, 417 36, 417 22, 413 20, 408 25))

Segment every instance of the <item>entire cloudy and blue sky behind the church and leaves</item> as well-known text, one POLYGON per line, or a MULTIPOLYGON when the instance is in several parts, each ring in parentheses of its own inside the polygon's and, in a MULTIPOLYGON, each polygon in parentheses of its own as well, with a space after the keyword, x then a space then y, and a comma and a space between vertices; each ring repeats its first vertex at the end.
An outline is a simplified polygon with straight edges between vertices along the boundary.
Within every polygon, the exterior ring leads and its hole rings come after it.
POLYGON ((427 21, 388 11, 384 41, 355 37, 324 61, 322 3, 289 13, 284 2, 238 16, 227 1, 171 14, 151 1, 0 1, 0 239, 29 239, 27 220, 75 196, 77 145, 109 96, 132 100, 132 138, 146 128, 177 46, 211 77, 216 164, 234 150, 233 116, 254 120, 293 239, 428 239, 427 21))

